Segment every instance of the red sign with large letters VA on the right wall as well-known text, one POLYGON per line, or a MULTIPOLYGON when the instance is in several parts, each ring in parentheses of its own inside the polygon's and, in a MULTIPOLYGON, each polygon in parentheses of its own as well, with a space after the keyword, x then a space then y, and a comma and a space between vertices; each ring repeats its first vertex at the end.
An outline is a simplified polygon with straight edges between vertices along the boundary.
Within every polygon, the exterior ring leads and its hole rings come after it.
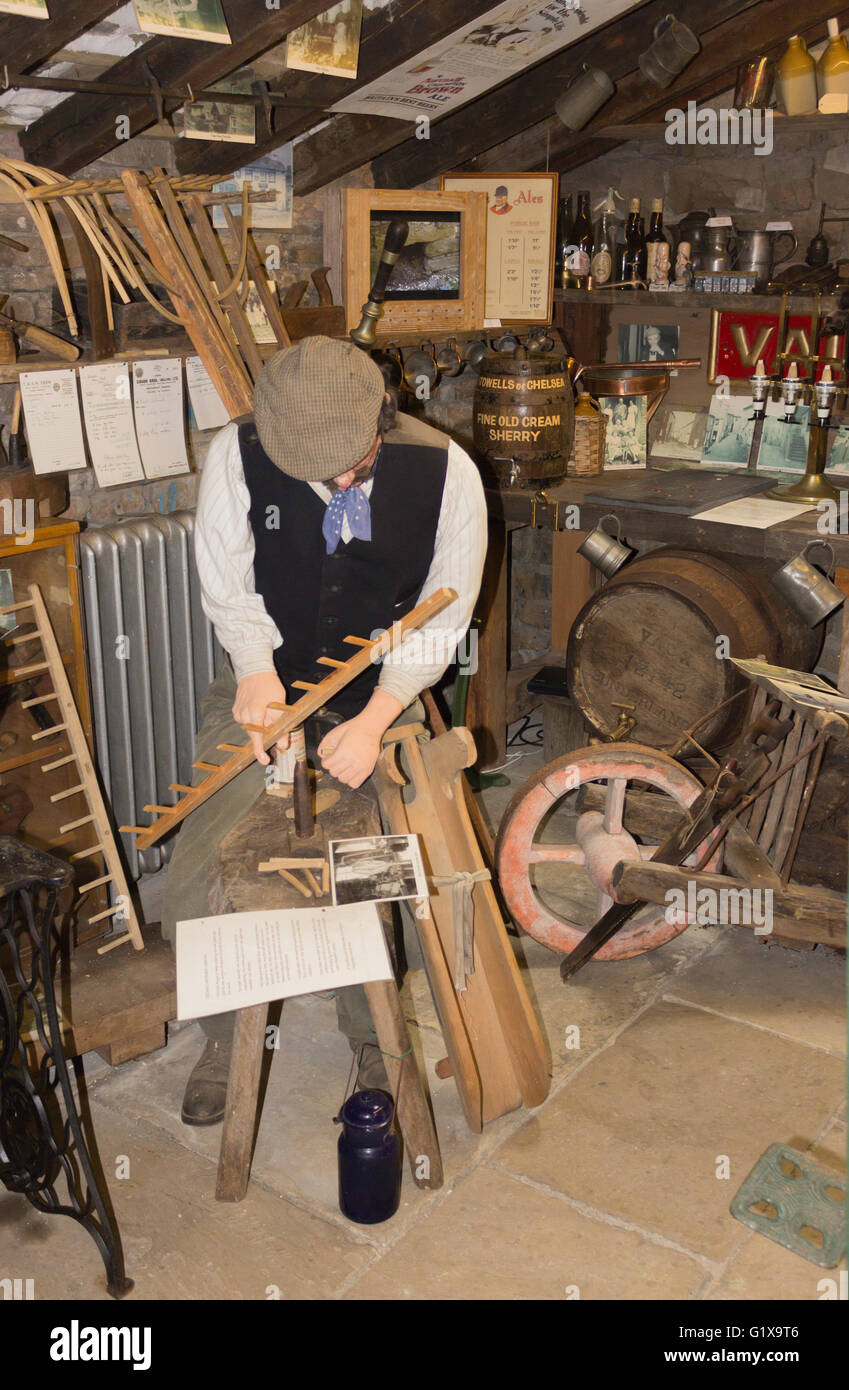
MULTIPOLYGON (((781 350, 789 354, 791 361, 796 359, 800 377, 810 375, 805 359, 811 353, 836 357, 842 363, 843 334, 820 335, 818 345, 813 343, 810 314, 788 314, 781 328, 778 314, 741 314, 736 310, 714 309, 710 324, 709 382, 714 385, 717 377, 748 381, 761 357, 767 373, 771 374, 780 350, 780 329, 781 350)), ((817 364, 817 377, 821 375, 824 363, 817 364)), ((782 375, 785 373, 786 363, 782 375)))

